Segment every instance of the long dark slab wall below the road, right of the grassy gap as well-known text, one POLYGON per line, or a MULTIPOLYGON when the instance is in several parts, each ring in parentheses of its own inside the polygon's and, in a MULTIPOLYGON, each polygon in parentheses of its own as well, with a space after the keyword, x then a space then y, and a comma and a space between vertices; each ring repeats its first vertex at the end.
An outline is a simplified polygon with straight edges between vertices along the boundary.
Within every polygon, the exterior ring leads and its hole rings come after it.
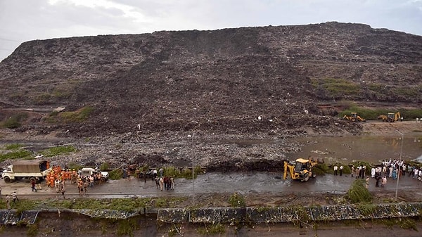
POLYGON ((418 217, 422 203, 379 205, 331 205, 312 207, 211 207, 198 209, 160 209, 157 220, 165 223, 237 223, 333 221, 418 217))

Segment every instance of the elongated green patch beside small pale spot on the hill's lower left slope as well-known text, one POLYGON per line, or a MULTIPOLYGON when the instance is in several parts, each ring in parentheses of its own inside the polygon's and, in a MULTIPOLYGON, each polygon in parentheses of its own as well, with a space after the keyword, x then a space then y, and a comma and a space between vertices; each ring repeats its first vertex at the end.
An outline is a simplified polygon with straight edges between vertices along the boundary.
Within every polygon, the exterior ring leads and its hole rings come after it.
POLYGON ((81 108, 76 111, 68 111, 68 112, 56 112, 53 111, 49 114, 49 117, 46 117, 46 122, 64 122, 64 123, 72 123, 72 122, 84 122, 88 119, 89 115, 94 111, 94 108, 87 106, 81 108))

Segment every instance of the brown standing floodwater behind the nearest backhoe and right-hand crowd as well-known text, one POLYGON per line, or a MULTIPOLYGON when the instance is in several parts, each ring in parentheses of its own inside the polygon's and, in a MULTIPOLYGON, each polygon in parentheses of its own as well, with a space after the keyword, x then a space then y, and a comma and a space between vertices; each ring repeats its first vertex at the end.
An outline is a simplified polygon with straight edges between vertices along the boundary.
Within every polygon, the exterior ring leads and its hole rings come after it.
POLYGON ((312 155, 324 158, 326 162, 341 161, 349 163, 353 160, 381 162, 385 159, 402 160, 422 159, 422 134, 404 136, 316 136, 295 139, 302 144, 301 150, 291 153, 290 159, 307 158, 312 155), (403 147, 402 147, 403 146, 403 147))

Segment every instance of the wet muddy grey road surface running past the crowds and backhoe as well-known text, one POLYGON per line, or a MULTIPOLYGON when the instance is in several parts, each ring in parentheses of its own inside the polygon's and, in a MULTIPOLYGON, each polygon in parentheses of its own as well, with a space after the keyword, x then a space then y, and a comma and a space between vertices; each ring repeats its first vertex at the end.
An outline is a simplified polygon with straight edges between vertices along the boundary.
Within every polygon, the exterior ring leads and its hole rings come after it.
MULTIPOLYGON (((324 176, 309 179, 307 182, 293 181, 291 179, 280 179, 281 173, 276 172, 243 172, 243 173, 208 173, 198 175, 198 178, 175 179, 174 190, 160 191, 156 188, 155 182, 147 179, 131 179, 130 181, 108 180, 105 184, 96 185, 88 189, 87 196, 90 198, 128 198, 128 197, 157 197, 157 196, 195 196, 203 193, 345 193, 350 188, 354 178, 350 174, 324 176)), ((375 179, 370 180, 369 191, 395 191, 397 181, 391 178, 385 187, 375 187, 375 179)), ((30 198, 51 198, 60 195, 54 188, 46 188, 43 184, 42 190, 31 191, 30 183, 25 180, 16 181, 11 184, 4 184, 0 181, 2 195, 16 191, 20 196, 30 198)), ((77 186, 67 183, 65 185, 65 196, 67 198, 79 197, 77 186)), ((404 176, 399 179, 399 190, 412 191, 422 197, 422 182, 404 176)))

